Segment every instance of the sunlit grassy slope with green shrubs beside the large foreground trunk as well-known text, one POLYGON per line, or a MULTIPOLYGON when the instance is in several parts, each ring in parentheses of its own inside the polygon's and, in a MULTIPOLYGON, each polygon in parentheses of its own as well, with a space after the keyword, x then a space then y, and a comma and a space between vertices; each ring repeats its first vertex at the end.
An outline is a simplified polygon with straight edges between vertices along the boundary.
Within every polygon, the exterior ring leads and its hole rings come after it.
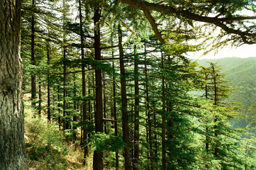
POLYGON ((25 103, 25 142, 29 169, 92 169, 92 154, 84 160, 80 145, 67 142, 58 125, 38 118, 25 103), (85 164, 83 164, 85 162, 85 164))

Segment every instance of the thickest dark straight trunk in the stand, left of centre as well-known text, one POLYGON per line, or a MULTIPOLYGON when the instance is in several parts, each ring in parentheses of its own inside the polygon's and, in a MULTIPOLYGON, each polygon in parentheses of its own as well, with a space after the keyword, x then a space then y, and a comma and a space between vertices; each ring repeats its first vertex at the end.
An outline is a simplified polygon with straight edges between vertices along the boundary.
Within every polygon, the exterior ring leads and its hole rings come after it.
MULTIPOLYGON (((95 52, 95 60, 101 60, 101 37, 100 37, 100 27, 99 27, 99 19, 100 19, 100 11, 99 6, 94 8, 94 52, 95 52)), ((103 106, 102 106, 102 77, 101 77, 101 69, 95 69, 95 85, 96 85, 96 113, 94 114, 95 120, 95 132, 103 132, 103 106)), ((93 160, 93 168, 94 170, 103 169, 103 152, 102 151, 94 151, 94 160, 93 160)))

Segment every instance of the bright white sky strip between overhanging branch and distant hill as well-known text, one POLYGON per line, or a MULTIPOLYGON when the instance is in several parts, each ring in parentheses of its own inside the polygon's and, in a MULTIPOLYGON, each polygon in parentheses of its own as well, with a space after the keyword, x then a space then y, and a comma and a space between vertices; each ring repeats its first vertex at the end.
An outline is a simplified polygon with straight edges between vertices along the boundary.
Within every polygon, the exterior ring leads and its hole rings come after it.
POLYGON ((203 51, 189 52, 187 57, 191 59, 218 59, 223 57, 256 57, 256 44, 255 45, 241 45, 240 47, 225 47, 221 50, 209 52, 203 55, 203 51), (216 53, 216 54, 215 54, 216 53))

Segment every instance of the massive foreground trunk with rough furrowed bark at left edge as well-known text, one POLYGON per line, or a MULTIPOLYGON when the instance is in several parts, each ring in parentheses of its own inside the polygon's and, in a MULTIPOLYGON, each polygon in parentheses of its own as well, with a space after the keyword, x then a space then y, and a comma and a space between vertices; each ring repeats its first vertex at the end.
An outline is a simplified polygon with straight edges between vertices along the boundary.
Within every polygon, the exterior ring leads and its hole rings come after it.
POLYGON ((21 1, 0 1, 0 169, 26 165, 21 92, 21 1))

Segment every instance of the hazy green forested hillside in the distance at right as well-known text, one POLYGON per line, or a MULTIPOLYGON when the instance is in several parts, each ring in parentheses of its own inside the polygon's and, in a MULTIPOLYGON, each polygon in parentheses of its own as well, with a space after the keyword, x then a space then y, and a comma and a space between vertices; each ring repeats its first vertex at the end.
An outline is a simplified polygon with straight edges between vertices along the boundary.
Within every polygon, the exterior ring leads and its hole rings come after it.
POLYGON ((230 80, 230 86, 235 89, 227 101, 238 101, 244 106, 240 114, 246 117, 234 120, 233 127, 255 128, 255 123, 252 122, 256 120, 256 111, 252 111, 252 106, 256 106, 256 57, 197 60, 197 63, 204 67, 208 67, 208 62, 218 62, 226 74, 226 80, 230 80))

